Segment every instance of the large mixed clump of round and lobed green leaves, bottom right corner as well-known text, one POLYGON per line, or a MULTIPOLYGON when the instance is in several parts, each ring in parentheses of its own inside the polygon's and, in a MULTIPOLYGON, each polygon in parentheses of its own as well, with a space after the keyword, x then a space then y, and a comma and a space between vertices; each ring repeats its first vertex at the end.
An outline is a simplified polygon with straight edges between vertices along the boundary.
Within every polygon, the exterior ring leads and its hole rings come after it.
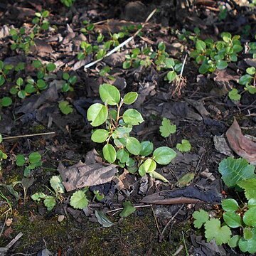
POLYGON ((219 165, 226 186, 239 186, 245 191, 247 202, 241 205, 233 198, 224 199, 218 218, 212 218, 205 210, 193 213, 196 228, 203 226, 206 240, 215 240, 217 245, 228 243, 242 252, 256 252, 256 175, 255 166, 245 159, 223 159, 219 165), (222 220, 223 218, 223 223, 222 220))

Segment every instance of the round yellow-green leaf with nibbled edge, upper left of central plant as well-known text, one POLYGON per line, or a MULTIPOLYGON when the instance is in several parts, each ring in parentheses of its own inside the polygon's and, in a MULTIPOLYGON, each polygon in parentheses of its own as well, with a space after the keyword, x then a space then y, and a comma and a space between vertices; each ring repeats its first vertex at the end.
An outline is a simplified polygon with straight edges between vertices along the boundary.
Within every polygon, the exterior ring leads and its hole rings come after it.
POLYGON ((87 110, 87 119, 93 127, 103 124, 107 120, 107 107, 100 103, 91 105, 87 110))

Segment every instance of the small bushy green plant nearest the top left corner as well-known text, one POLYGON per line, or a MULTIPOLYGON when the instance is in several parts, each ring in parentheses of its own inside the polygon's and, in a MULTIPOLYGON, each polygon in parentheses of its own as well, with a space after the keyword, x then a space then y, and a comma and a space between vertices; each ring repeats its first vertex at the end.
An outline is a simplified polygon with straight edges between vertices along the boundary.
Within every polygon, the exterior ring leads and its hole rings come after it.
POLYGON ((21 27, 19 30, 11 28, 10 35, 12 41, 14 41, 14 43, 11 43, 11 50, 21 50, 25 54, 28 54, 31 50, 31 46, 35 45, 35 42, 33 41, 35 37, 34 33, 29 33, 27 36, 24 27, 21 27))

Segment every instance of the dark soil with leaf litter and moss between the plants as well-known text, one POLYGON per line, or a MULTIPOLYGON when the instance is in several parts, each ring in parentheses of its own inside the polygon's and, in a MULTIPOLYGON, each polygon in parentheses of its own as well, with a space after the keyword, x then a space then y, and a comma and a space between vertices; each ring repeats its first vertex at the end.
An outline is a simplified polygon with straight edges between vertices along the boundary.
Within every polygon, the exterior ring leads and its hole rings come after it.
MULTIPOLYGON (((28 188, 25 202, 23 189, 18 185, 15 186, 20 196, 18 200, 10 196, 4 188, 2 190, 7 200, 1 196, 1 213, 9 208, 6 201, 10 201, 13 212, 8 215, 12 218, 9 226, 4 224, 6 214, 1 216, 0 247, 5 247, 19 232, 23 233, 9 250, 9 255, 18 252, 36 254, 45 248, 53 255, 172 255, 175 252, 176 255, 186 255, 186 250, 191 255, 242 255, 228 247, 216 248, 204 242, 202 234, 193 228, 193 210, 213 210, 219 201, 206 201, 202 204, 191 201, 183 204, 181 200, 171 206, 159 203, 137 208, 133 215, 124 219, 112 214, 118 213, 114 209, 122 207, 125 199, 132 201, 134 206, 142 206, 141 200, 145 196, 159 191, 180 189, 178 180, 189 173, 195 176, 193 181, 185 185, 200 188, 202 192, 210 191, 221 198, 224 188, 218 173, 218 164, 225 155, 215 149, 213 137, 225 133, 233 123, 233 117, 238 119, 240 127, 244 127, 247 134, 256 135, 255 95, 242 92, 240 102, 231 101, 227 95, 230 87, 238 87, 238 82, 232 77, 241 75, 242 70, 245 70, 245 59, 250 58, 249 54, 240 53, 237 63, 230 63, 226 70, 216 70, 210 75, 198 74, 198 66, 188 57, 183 71, 186 82, 177 94, 174 93, 175 85, 164 80, 166 72, 156 70, 154 65, 149 68, 122 68, 125 53, 135 46, 151 46, 157 50, 158 43, 164 41, 169 56, 182 63, 188 51, 193 48, 193 42, 188 36, 186 40, 181 40, 185 33, 182 29, 193 31, 195 27, 199 27, 202 38, 218 38, 223 31, 243 33, 242 42, 246 42, 255 36, 255 13, 247 7, 234 6, 233 1, 230 1, 227 5, 230 14, 224 21, 220 21, 218 5, 208 6, 203 3, 196 6, 188 3, 187 6, 180 6, 175 4, 176 1, 161 1, 156 6, 154 1, 136 2, 134 5, 127 2, 77 0, 71 9, 55 0, 36 3, 2 1, 0 4, 1 60, 13 65, 21 61, 26 63, 25 70, 11 73, 10 80, 1 87, 0 96, 9 96, 9 89, 17 78, 22 77, 25 80, 28 75, 35 76, 36 70, 31 65, 33 60, 50 61, 57 66, 55 76, 48 80, 50 87, 47 90, 23 100, 12 96, 13 104, 0 110, 0 132, 5 137, 55 132, 42 137, 6 139, 1 145, 8 155, 8 159, 2 162, 0 174, 0 182, 4 185, 23 178, 24 168, 15 164, 18 154, 28 156, 31 152, 38 151, 43 159, 43 166, 34 169, 28 177, 31 181, 33 178, 33 185, 28 188), (109 32, 118 33, 122 26, 131 24, 136 31, 137 26, 144 22, 155 7, 159 8, 159 12, 146 24, 140 35, 142 37, 137 36, 119 53, 114 53, 97 65, 83 70, 84 65, 93 58, 92 55, 87 55, 84 60, 76 57, 82 41, 97 42, 96 31, 110 38, 109 32), (32 53, 24 55, 17 50, 11 50, 11 39, 6 28, 31 28, 35 11, 41 9, 50 11, 48 20, 52 29, 39 34, 32 53), (110 21, 107 22, 107 19, 110 21), (96 23, 93 31, 85 34, 80 32, 80 28, 85 27, 82 24, 84 20, 96 23), (99 21, 105 22, 97 24, 99 21), (248 25, 251 29, 245 33, 248 25), (111 71, 107 75, 99 75, 99 70, 105 64, 110 66, 111 71), (77 76, 78 82, 74 85, 74 91, 61 90, 63 72, 77 76), (142 178, 128 173, 121 178, 124 188, 129 192, 127 194, 114 188, 112 181, 91 188, 87 210, 71 208, 69 199, 72 193, 65 193, 57 206, 48 211, 43 203, 32 201, 31 195, 36 192, 48 193, 46 186, 49 187, 52 176, 59 174, 60 161, 65 167, 72 166, 80 160, 85 161, 88 151, 100 149, 98 144, 90 140, 92 127, 87 122, 86 110, 92 103, 98 102, 98 87, 103 82, 117 86, 122 95, 129 91, 139 93, 135 107, 142 112, 145 119, 143 124, 134 127, 133 135, 139 140, 150 140, 155 147, 169 146, 175 149, 182 139, 188 139, 192 149, 184 154, 177 151, 178 156, 171 164, 157 169, 159 174, 169 180, 169 185, 154 181, 150 177, 142 178), (58 102, 61 100, 67 100, 73 106, 72 114, 65 115, 60 112, 58 102), (204 115, 204 111, 208 114, 204 115), (167 138, 161 137, 159 126, 162 117, 169 118, 176 124, 176 134, 167 138), (105 193, 105 201, 99 203, 94 200, 92 191, 95 189, 105 193), (102 228, 97 223, 94 210, 110 211, 108 217, 116 225, 102 228), (59 221, 60 216, 64 216, 64 220, 59 221), (179 248, 180 252, 177 251, 179 248)), ((134 31, 129 31, 129 35, 134 31)), ((121 170, 119 174, 122 174, 121 170)), ((182 196, 193 198, 193 195, 185 193, 182 196)))

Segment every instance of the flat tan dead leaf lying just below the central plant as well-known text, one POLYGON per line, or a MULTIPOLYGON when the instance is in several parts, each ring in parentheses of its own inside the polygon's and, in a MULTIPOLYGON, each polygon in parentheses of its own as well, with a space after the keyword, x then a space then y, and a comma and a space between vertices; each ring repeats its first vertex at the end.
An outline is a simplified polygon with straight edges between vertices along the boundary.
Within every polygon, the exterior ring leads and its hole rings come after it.
MULTIPOLYGON (((88 154, 92 155, 91 152, 88 154)), ((73 191, 85 186, 95 186, 110 182, 117 173, 114 164, 93 163, 90 161, 79 161, 78 164, 65 168, 62 163, 58 166, 58 171, 63 180, 66 191, 73 191)))

